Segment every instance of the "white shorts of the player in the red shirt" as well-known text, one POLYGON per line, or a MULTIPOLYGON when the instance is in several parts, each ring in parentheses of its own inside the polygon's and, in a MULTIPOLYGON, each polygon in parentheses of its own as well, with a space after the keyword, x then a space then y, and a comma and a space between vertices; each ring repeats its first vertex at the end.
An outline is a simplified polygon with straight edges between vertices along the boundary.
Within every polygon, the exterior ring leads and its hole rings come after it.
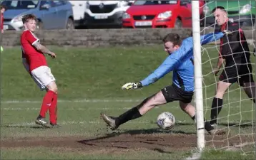
POLYGON ((54 75, 51 74, 51 69, 47 66, 40 66, 39 68, 32 70, 31 75, 36 82, 36 85, 38 85, 41 90, 45 90, 46 85, 55 81, 54 75))

